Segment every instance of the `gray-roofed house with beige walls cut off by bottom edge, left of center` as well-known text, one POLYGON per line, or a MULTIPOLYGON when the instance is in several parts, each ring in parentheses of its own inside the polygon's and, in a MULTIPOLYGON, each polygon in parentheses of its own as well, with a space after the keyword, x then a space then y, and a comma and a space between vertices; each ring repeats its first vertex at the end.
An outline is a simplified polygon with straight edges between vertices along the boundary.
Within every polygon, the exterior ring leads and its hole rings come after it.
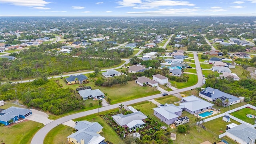
POLYGON ((70 134, 68 142, 72 144, 104 144, 105 138, 99 133, 102 126, 98 122, 80 121, 74 127, 76 132, 70 134))

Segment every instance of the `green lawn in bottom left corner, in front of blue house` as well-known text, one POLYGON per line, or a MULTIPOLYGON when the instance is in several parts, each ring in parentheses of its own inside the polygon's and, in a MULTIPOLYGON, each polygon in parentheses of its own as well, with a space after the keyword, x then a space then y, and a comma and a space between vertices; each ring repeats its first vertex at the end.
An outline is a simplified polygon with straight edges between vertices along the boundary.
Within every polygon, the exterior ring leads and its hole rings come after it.
POLYGON ((12 126, 0 126, 0 140, 6 144, 29 144, 42 126, 41 123, 30 120, 12 126))

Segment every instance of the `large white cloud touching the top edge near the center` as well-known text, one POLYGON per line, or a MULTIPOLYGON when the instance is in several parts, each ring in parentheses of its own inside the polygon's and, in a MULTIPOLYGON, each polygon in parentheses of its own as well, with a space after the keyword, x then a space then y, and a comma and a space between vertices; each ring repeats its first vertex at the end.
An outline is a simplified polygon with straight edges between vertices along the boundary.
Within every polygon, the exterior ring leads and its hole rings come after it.
POLYGON ((133 7, 134 9, 150 9, 158 8, 160 6, 195 6, 187 1, 172 1, 172 0, 123 0, 117 2, 121 7, 133 7), (148 7, 148 8, 146 8, 148 7))

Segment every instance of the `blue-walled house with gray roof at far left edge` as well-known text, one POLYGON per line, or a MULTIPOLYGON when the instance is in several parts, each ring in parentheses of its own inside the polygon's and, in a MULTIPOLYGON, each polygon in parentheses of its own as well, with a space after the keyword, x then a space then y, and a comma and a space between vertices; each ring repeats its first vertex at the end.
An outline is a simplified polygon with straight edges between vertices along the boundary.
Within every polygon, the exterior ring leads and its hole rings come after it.
POLYGON ((6 110, 3 110, 0 112, 0 123, 4 125, 9 125, 12 122, 18 121, 20 118, 26 118, 27 116, 30 116, 32 114, 31 110, 28 110, 26 108, 18 108, 15 106, 12 106, 10 108, 7 108, 6 110))

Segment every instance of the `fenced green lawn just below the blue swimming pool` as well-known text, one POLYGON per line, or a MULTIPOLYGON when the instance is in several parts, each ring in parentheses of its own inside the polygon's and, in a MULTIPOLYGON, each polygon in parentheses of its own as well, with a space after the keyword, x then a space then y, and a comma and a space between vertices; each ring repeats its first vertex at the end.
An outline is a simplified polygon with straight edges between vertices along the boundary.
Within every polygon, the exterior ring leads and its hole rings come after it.
POLYGON ((211 130, 212 132, 214 132, 217 135, 223 134, 224 132, 226 132, 226 126, 228 124, 232 124, 235 123, 237 125, 241 124, 240 122, 237 122, 235 120, 230 120, 231 122, 225 122, 224 120, 222 120, 222 116, 220 118, 216 118, 214 120, 211 120, 209 122, 204 123, 204 126, 211 130), (222 132, 221 132, 222 131, 222 132))

